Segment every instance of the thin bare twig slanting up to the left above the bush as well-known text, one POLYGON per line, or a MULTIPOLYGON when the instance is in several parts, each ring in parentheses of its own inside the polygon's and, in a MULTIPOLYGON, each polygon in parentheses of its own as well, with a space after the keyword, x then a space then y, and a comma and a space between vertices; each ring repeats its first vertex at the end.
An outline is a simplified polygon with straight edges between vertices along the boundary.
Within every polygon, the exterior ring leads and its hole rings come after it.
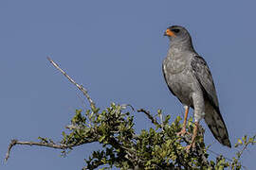
POLYGON ((91 109, 95 110, 95 103, 93 102, 93 100, 91 99, 90 95, 87 93, 87 90, 82 87, 82 85, 79 85, 78 83, 76 83, 76 81, 74 79, 72 79, 70 76, 68 76, 63 69, 60 68, 60 66, 54 62, 52 59, 50 59, 49 57, 47 57, 47 59, 50 61, 50 63, 57 68, 71 83, 73 83, 75 86, 77 86, 77 88, 83 93, 83 95, 87 98, 87 100, 90 103, 91 109))

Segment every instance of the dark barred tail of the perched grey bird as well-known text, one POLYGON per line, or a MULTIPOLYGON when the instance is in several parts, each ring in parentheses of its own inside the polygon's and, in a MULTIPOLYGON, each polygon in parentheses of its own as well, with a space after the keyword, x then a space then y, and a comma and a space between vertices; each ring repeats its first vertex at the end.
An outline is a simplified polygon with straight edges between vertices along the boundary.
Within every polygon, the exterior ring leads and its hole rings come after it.
POLYGON ((205 106, 205 121, 213 136, 220 144, 231 147, 229 133, 219 110, 215 110, 209 102, 205 106))

